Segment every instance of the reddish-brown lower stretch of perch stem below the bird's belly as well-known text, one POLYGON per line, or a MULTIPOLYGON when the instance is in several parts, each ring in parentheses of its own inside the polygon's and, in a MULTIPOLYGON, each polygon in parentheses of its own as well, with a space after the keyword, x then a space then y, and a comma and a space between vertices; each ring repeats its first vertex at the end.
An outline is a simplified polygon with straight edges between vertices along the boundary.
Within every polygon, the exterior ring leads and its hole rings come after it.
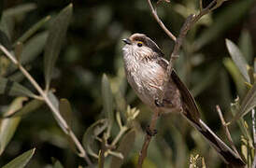
MULTIPOLYGON (((155 126, 156 126, 156 122, 157 122, 157 119, 159 118, 159 115, 160 115, 159 111, 155 110, 154 113, 153 113, 150 125, 149 125, 149 132, 151 132, 151 133, 154 132, 155 126)), ((148 151, 148 147, 149 147, 149 143, 151 141, 151 138, 152 138, 152 135, 149 135, 148 133, 146 133, 144 144, 143 144, 143 146, 142 146, 142 148, 141 148, 141 150, 139 152, 137 168, 141 168, 142 167, 143 161, 144 161, 144 159, 147 156, 147 151, 148 151)))

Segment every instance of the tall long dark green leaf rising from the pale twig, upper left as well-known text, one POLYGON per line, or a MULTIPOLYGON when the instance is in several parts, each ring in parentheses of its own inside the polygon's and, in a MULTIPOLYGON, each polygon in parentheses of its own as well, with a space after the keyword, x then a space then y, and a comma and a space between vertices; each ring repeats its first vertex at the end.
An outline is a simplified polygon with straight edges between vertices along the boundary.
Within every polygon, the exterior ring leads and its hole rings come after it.
POLYGON ((47 38, 44 54, 44 70, 46 80, 46 90, 50 88, 50 78, 53 66, 60 54, 61 47, 64 41, 64 35, 67 31, 67 26, 71 21, 73 5, 70 4, 57 15, 54 21, 50 24, 50 32, 47 38))

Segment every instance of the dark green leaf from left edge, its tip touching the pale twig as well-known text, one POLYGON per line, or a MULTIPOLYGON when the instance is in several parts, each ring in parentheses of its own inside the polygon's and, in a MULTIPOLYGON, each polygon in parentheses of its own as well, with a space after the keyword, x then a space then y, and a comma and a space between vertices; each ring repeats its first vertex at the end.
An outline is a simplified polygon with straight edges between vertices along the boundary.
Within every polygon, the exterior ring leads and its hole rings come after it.
POLYGON ((35 97, 32 91, 24 88, 21 84, 11 81, 5 77, 0 77, 0 94, 9 96, 29 96, 35 97))

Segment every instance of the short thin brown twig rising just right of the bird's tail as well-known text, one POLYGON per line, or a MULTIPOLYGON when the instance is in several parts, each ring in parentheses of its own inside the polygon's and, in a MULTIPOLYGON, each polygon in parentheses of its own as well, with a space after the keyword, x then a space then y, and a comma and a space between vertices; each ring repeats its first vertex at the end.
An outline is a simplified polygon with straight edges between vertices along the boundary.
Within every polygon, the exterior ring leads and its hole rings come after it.
POLYGON ((227 123, 226 123, 225 119, 223 118, 222 112, 221 112, 221 110, 220 110, 220 105, 216 105, 216 109, 217 109, 217 112, 218 112, 218 114, 219 114, 219 117, 220 117, 220 120, 221 120, 221 124, 222 124, 223 130, 224 130, 224 132, 225 132, 225 134, 226 134, 226 136, 227 136, 227 138, 228 138, 228 141, 229 141, 231 147, 232 147, 233 150, 235 151, 236 155, 237 155, 237 156, 240 156, 239 153, 238 153, 238 151, 237 151, 237 149, 236 149, 236 147, 235 147, 235 145, 234 145, 234 142, 233 142, 233 140, 232 140, 232 137, 231 137, 231 134, 230 134, 230 132, 229 132, 227 123))

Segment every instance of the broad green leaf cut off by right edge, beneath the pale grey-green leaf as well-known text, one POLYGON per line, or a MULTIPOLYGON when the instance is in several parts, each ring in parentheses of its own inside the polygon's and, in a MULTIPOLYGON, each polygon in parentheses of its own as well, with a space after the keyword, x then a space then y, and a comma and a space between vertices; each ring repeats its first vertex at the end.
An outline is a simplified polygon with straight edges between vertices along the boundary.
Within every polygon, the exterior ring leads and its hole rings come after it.
POLYGON ((256 83, 254 83, 252 88, 248 91, 247 95, 242 101, 241 110, 235 114, 235 117, 234 119, 232 119, 232 121, 245 116, 255 106, 256 106, 256 83))

